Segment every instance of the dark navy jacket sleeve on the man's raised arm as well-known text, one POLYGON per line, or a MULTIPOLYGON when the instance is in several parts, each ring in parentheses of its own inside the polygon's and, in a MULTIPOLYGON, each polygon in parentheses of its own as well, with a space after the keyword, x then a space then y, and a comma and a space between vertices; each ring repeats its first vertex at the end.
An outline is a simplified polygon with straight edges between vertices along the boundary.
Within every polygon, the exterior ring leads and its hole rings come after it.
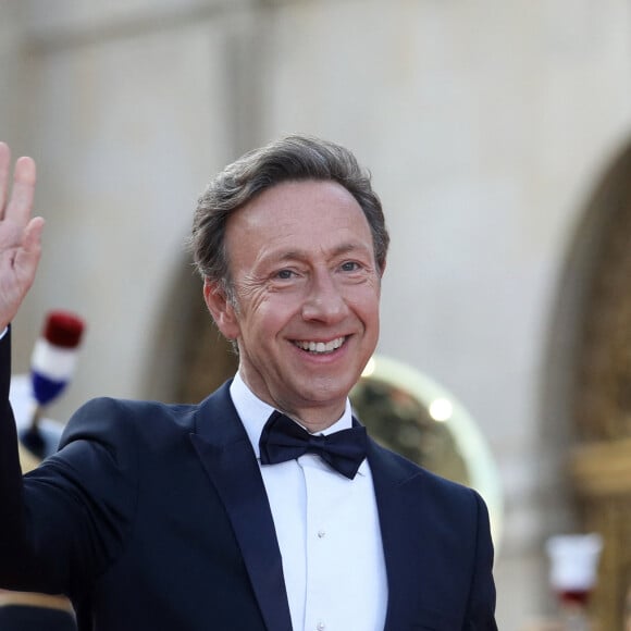
POLYGON ((21 474, 9 404, 10 339, 0 341, 0 586, 81 597, 121 554, 136 507, 133 423, 97 399, 63 447, 21 474))

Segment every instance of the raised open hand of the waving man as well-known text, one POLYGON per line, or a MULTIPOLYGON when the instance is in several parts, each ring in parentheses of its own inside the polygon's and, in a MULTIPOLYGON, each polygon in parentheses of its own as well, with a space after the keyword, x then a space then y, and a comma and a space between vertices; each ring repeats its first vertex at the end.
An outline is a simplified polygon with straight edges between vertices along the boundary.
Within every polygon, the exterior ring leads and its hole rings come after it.
POLYGON ((11 151, 0 143, 0 332, 13 320, 35 279, 41 253, 44 219, 30 218, 35 162, 15 162, 9 194, 11 151))

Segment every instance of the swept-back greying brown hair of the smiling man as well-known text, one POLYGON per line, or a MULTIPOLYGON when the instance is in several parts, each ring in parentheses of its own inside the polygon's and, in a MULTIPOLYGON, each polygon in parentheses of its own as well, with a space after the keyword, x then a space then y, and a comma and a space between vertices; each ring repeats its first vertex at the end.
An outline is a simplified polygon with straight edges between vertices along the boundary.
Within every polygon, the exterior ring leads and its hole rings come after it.
POLYGON ((189 245, 202 279, 222 283, 232 295, 225 248, 228 216, 263 190, 301 180, 336 182, 355 197, 370 225, 375 261, 383 272, 389 236, 370 173, 339 145, 293 135, 249 151, 228 164, 199 198, 189 245))

